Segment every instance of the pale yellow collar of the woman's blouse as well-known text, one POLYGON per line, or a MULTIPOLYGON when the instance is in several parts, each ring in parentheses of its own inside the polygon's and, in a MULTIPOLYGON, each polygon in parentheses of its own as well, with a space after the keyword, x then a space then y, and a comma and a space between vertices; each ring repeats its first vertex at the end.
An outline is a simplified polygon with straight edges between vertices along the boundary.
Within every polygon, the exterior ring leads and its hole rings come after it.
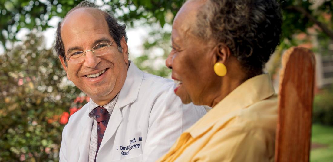
POLYGON ((275 93, 269 74, 262 74, 240 84, 185 132, 195 138, 231 112, 246 108, 275 93))

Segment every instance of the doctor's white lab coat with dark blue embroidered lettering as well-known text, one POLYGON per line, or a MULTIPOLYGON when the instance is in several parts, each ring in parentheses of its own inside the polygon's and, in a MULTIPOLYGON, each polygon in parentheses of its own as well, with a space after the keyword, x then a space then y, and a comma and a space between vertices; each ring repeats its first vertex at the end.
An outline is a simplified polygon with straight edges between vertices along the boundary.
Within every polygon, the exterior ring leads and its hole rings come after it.
MULTIPOLYGON (((111 114, 97 162, 150 162, 164 155, 180 134, 205 114, 203 106, 182 104, 171 80, 130 64, 111 114)), ((87 162, 93 119, 88 106, 74 113, 62 133, 60 162, 87 162)))

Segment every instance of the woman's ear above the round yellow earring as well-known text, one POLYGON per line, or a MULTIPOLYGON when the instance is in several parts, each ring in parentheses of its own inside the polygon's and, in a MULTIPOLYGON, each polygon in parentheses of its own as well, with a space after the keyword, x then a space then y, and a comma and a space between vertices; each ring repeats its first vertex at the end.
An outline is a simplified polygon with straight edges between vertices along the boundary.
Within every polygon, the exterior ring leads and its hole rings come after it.
POLYGON ((220 62, 225 65, 231 55, 229 47, 223 43, 218 43, 214 47, 213 53, 213 64, 220 62))

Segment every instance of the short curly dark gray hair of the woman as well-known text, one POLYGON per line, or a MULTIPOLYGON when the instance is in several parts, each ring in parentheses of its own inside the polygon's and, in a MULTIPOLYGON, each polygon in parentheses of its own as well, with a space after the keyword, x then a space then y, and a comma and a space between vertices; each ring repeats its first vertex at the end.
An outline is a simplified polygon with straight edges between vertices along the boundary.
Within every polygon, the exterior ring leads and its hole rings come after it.
POLYGON ((224 43, 254 76, 279 45, 281 23, 276 0, 207 0, 198 11, 194 34, 224 43))

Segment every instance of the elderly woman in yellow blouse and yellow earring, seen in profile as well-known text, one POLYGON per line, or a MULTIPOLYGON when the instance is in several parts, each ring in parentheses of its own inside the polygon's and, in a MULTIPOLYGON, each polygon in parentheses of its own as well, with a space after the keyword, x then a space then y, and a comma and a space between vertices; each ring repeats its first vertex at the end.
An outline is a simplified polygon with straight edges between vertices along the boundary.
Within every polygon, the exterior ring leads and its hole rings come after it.
POLYGON ((273 161, 277 96, 263 73, 279 44, 276 0, 188 0, 166 66, 183 103, 213 107, 159 161, 273 161))

